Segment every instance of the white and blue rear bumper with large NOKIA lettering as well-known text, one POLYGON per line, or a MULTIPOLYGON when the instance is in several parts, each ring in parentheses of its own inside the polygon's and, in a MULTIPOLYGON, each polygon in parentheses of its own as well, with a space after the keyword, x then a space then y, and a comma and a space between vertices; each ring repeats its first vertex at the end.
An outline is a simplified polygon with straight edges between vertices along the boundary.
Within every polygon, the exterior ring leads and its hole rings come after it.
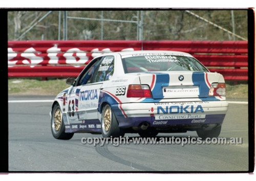
POLYGON ((124 103, 112 105, 120 128, 139 127, 200 127, 221 125, 228 103, 226 101, 124 103), (194 126, 195 125, 195 126, 194 126))

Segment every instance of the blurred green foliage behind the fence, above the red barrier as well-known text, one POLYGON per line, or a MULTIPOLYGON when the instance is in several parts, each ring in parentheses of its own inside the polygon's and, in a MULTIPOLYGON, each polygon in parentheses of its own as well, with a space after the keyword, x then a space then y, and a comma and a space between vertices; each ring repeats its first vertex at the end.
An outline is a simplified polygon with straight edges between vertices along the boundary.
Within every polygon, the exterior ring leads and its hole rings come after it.
MULTIPOLYGON (((231 10, 191 11, 218 26, 233 31, 231 10)), ((47 11, 8 12, 8 39, 15 40, 35 24, 47 11)), ((233 36, 214 27, 185 10, 145 10, 145 11, 68 11, 68 17, 94 18, 84 20, 68 18, 68 39, 137 40, 139 21, 143 17, 144 40, 233 40, 233 36), (103 16, 102 16, 103 15, 103 16), (101 21, 100 19, 105 19, 101 21), (123 20, 123 22, 108 21, 123 20), (135 21, 135 22, 125 22, 135 21)), ((234 33, 247 39, 247 11, 233 10, 234 33)), ((21 40, 57 40, 59 11, 53 11, 32 28, 21 40)), ((63 12, 60 16, 60 37, 63 35, 63 12)), ((235 40, 241 40, 235 38, 235 40)))

